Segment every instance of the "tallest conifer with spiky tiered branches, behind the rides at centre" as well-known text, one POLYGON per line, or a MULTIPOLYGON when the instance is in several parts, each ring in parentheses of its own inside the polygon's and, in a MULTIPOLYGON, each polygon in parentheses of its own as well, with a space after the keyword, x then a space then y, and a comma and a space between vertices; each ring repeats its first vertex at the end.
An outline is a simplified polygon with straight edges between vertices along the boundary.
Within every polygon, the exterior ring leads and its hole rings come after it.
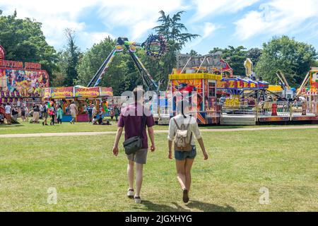
POLYGON ((163 79, 166 85, 167 75, 172 73, 172 69, 175 68, 177 64, 177 52, 180 52, 187 42, 199 37, 199 35, 188 33, 186 26, 183 23, 179 23, 184 11, 179 11, 172 17, 170 15, 165 15, 164 11, 160 11, 159 13, 160 17, 158 18, 158 23, 160 23, 160 25, 153 28, 153 30, 165 37, 169 51, 160 60, 159 64, 161 64, 162 70, 160 70, 157 78, 160 80, 163 79))

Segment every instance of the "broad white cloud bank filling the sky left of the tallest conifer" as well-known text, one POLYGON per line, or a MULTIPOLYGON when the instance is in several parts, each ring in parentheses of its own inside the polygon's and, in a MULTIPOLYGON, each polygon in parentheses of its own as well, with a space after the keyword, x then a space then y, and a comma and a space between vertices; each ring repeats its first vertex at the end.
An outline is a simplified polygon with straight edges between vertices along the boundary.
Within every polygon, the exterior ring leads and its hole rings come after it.
POLYGON ((54 47, 64 47, 64 29, 71 28, 76 30, 78 40, 83 42, 82 48, 86 48, 102 40, 103 35, 114 37, 110 34, 111 29, 117 32, 128 28, 128 34, 122 36, 137 40, 156 25, 160 10, 172 13, 189 7, 182 5, 183 0, 11 0, 1 1, 0 8, 4 15, 12 14, 17 9, 18 18, 35 18, 41 22, 47 42, 54 47), (92 31, 88 35, 86 29, 89 25, 79 21, 79 18, 91 8, 97 8, 90 16, 100 20, 105 25, 105 31, 92 31))

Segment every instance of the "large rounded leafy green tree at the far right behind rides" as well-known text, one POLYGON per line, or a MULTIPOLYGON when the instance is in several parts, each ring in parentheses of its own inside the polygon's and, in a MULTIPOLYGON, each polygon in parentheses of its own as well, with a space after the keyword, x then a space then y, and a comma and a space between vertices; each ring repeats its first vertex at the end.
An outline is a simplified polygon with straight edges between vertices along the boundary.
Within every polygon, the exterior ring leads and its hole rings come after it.
POLYGON ((278 83, 276 72, 281 70, 290 85, 298 86, 316 60, 317 52, 311 44, 283 35, 263 44, 256 72, 269 83, 278 83))

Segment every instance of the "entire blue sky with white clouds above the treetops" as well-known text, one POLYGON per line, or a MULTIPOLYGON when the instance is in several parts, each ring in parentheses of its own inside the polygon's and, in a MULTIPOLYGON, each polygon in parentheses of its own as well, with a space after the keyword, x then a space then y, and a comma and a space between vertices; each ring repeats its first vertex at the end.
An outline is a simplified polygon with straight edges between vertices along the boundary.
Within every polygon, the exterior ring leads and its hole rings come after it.
MULTIPOLYGON (((107 35, 143 42, 157 25, 158 11, 186 11, 182 17, 189 32, 201 37, 182 52, 206 54, 213 47, 261 47, 273 36, 288 35, 318 49, 317 0, 91 0, 0 2, 4 15, 43 23, 47 42, 56 49, 66 44, 64 29, 76 30, 76 42, 85 51, 107 35)), ((1 44, 1 43, 0 43, 1 44)))

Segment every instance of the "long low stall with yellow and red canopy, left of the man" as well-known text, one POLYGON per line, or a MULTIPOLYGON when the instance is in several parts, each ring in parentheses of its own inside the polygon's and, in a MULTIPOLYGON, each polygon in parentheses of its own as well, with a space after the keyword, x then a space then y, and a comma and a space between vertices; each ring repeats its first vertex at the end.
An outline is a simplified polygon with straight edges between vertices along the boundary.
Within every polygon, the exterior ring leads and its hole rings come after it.
POLYGON ((96 114, 99 117, 109 116, 110 99, 112 99, 112 88, 107 87, 92 87, 86 88, 80 85, 74 87, 57 87, 45 88, 44 99, 54 100, 57 105, 61 105, 63 109, 62 121, 71 121, 71 112, 69 105, 74 101, 78 109, 76 121, 88 121, 88 112, 86 107, 93 104, 96 109, 96 114))

